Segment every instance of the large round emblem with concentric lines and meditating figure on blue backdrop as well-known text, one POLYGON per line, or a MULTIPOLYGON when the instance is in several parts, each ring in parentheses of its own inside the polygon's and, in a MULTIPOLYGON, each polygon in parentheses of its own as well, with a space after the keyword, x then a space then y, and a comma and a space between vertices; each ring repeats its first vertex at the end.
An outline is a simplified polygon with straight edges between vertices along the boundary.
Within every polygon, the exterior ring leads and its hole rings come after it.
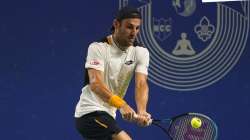
POLYGON ((192 91, 221 80, 239 61, 249 33, 250 2, 120 0, 143 17, 138 35, 150 51, 149 80, 192 91), (230 5, 231 4, 231 5, 230 5))

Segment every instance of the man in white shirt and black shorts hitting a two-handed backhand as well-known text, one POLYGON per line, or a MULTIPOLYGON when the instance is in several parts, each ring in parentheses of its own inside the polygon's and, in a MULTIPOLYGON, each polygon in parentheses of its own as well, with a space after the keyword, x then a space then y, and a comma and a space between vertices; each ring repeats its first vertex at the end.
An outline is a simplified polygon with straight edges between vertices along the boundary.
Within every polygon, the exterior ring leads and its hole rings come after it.
POLYGON ((131 140, 115 121, 117 109, 124 120, 140 126, 149 123, 151 116, 146 110, 149 52, 136 44, 140 25, 137 9, 122 8, 113 21, 112 35, 88 48, 85 64, 88 83, 75 111, 77 130, 87 140, 131 140), (123 100, 133 75, 136 111, 123 100))

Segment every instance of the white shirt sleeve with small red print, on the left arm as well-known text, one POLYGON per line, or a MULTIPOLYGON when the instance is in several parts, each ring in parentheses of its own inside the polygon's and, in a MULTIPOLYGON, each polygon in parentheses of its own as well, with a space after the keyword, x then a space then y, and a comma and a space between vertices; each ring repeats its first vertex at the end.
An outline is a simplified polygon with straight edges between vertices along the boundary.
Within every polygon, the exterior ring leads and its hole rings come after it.
POLYGON ((89 45, 85 68, 104 71, 104 46, 98 43, 89 45))

